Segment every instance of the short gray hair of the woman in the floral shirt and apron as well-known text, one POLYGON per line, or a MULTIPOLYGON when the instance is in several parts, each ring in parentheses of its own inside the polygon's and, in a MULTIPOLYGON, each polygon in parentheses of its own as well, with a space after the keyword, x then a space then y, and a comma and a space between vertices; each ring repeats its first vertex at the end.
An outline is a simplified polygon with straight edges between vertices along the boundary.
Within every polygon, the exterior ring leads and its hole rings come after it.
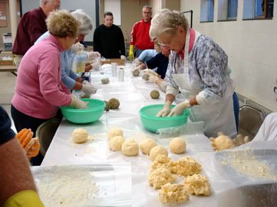
POLYGON ((188 19, 179 11, 159 10, 153 17, 150 27, 150 37, 155 39, 161 34, 176 34, 178 26, 188 29, 188 19))

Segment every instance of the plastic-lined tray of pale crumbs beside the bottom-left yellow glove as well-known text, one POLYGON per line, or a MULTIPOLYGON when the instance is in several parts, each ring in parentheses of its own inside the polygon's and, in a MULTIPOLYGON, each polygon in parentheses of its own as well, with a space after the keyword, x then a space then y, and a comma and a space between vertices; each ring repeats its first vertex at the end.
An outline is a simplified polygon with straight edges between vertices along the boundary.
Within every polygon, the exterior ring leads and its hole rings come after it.
POLYGON ((132 206, 129 163, 31 168, 46 207, 132 206))

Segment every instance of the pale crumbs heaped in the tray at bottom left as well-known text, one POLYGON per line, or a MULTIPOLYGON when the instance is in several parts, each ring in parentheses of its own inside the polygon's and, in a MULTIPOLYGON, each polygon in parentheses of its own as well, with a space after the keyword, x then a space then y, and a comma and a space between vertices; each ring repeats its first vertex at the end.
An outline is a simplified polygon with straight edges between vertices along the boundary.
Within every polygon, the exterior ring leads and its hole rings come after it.
POLYGON ((99 193, 92 173, 82 169, 46 172, 36 184, 39 197, 46 207, 89 206, 99 193))

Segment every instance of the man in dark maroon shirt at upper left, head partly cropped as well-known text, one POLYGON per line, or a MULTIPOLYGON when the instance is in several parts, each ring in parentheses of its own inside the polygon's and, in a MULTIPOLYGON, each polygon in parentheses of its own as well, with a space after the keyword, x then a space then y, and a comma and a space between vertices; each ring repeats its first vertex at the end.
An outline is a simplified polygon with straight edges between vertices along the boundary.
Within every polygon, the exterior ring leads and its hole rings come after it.
POLYGON ((12 48, 12 53, 17 55, 17 65, 27 50, 47 31, 45 20, 48 14, 60 8, 60 0, 40 0, 39 4, 39 8, 26 12, 19 21, 12 48))

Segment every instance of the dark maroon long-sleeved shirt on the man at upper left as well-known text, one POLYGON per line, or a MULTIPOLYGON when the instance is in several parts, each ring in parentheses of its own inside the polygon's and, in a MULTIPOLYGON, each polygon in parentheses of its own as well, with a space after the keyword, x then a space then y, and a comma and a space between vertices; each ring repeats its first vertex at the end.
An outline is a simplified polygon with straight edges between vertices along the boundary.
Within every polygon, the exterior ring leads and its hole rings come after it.
POLYGON ((46 15, 42 8, 36 8, 26 12, 19 21, 12 53, 25 55, 35 41, 47 31, 45 20, 46 15))

